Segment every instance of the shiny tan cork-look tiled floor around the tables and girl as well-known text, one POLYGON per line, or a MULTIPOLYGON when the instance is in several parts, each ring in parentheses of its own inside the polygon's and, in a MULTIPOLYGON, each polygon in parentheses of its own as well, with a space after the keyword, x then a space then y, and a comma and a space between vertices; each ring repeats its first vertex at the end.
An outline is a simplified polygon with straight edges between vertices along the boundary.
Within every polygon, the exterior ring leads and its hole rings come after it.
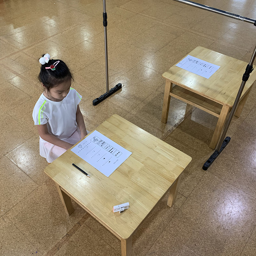
MULTIPOLYGON (((256 18, 256 0, 197 0, 256 18)), ((256 255, 256 87, 231 142, 202 170, 217 118, 171 101, 160 122, 161 74, 201 45, 249 61, 256 28, 172 0, 108 0, 109 81, 105 92, 102 0, 0 0, 0 255, 120 255, 120 241, 74 203, 68 217, 44 174, 32 109, 42 88, 39 57, 72 69, 88 130, 113 114, 192 156, 176 202, 165 197, 133 237, 133 255, 256 255)), ((240 83, 240 81, 239 81, 240 83)))

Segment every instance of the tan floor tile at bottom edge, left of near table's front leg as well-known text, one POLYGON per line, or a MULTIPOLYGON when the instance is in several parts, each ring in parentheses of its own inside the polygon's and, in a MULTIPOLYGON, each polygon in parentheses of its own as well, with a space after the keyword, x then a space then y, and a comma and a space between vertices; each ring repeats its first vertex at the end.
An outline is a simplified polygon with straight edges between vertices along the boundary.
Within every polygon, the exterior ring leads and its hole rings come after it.
MULTIPOLYGON (((120 243, 121 247, 121 243, 120 243)), ((97 255, 114 256, 116 251, 85 224, 61 244, 54 256, 97 255), (90 239, 88 239, 90 237, 90 239)))

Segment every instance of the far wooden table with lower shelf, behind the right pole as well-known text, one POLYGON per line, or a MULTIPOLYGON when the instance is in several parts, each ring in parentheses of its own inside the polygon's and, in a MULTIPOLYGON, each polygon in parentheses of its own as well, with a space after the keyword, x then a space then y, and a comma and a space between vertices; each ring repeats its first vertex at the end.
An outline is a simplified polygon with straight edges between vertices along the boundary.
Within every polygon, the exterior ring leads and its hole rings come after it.
MULTIPOLYGON (((216 64, 220 68, 209 79, 176 67, 175 65, 180 61, 164 72, 162 76, 166 79, 166 83, 161 121, 167 122, 171 96, 217 116, 219 120, 210 143, 210 148, 214 149, 228 113, 233 107, 247 63, 201 46, 196 47, 188 55, 216 64)), ((245 84, 235 116, 240 116, 255 80, 256 72, 252 71, 245 84)))

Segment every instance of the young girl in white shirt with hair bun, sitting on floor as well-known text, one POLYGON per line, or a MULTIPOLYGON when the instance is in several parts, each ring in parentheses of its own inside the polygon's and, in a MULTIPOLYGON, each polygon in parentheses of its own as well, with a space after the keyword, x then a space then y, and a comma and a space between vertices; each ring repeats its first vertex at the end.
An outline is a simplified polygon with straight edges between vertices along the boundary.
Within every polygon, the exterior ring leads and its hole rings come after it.
POLYGON ((40 155, 48 163, 87 135, 79 108, 82 96, 71 88, 73 76, 62 60, 50 60, 44 54, 38 76, 44 92, 37 100, 33 119, 40 135, 40 155))

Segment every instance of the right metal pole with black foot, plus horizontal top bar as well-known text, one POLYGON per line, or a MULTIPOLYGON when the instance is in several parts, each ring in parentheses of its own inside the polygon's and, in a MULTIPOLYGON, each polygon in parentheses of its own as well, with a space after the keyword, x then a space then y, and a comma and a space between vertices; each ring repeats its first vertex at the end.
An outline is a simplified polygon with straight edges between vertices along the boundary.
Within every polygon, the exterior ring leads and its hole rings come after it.
MULTIPOLYGON (((246 18, 244 16, 240 16, 240 15, 235 14, 235 13, 226 12, 226 11, 223 11, 223 10, 220 10, 220 9, 216 9, 216 8, 204 5, 204 4, 198 4, 198 3, 191 2, 191 1, 188 1, 188 0, 174 0, 174 1, 180 2, 180 3, 183 3, 183 4, 188 4, 190 6, 194 6, 194 7, 206 10, 206 11, 215 12, 215 13, 218 13, 218 14, 221 14, 221 15, 224 15, 224 16, 228 16, 228 17, 236 19, 236 20, 242 20, 242 21, 245 21, 245 22, 249 22, 249 23, 252 23, 254 26, 256 26, 256 20, 246 18)), ((239 103, 240 97, 242 95, 242 92, 244 90, 244 85, 245 85, 246 81, 249 79, 250 74, 253 70, 253 62, 254 62, 254 59, 255 59, 255 55, 256 55, 256 46, 255 46, 254 51, 252 53, 252 58, 251 58, 249 64, 247 65, 247 67, 245 69, 245 72, 244 72, 244 75, 243 75, 243 78, 242 78, 242 83, 241 83, 241 85, 239 87, 239 90, 238 90, 238 93, 236 95, 236 99, 235 99, 234 105, 231 109, 231 112, 229 114, 228 121, 226 122, 226 124, 224 126, 224 129, 223 129, 222 136, 220 138, 220 142, 218 144, 218 147, 215 150, 215 152, 212 154, 212 156, 210 156, 210 158, 203 165, 203 170, 205 170, 205 171, 210 167, 210 165, 214 162, 214 160, 220 155, 220 153, 228 145, 228 143, 231 139, 230 137, 225 138, 225 136, 226 136, 226 133, 228 131, 228 127, 231 123, 231 120, 232 120, 232 118, 235 114, 235 111, 236 111, 237 105, 239 103)))

